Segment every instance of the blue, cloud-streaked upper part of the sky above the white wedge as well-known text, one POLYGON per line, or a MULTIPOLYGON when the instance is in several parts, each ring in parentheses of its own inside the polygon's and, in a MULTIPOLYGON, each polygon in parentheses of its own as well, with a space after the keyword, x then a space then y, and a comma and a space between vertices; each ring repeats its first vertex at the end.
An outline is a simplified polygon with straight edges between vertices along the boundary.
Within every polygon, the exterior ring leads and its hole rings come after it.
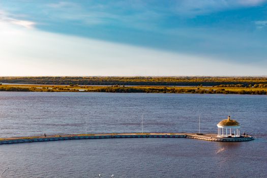
POLYGON ((0 23, 248 64, 266 61, 266 36, 251 33, 267 26, 264 19, 255 21, 263 13, 247 13, 261 12, 254 7, 266 1, 38 1, 33 11, 9 5, 0 23), (240 10, 215 14, 232 9, 240 10))

